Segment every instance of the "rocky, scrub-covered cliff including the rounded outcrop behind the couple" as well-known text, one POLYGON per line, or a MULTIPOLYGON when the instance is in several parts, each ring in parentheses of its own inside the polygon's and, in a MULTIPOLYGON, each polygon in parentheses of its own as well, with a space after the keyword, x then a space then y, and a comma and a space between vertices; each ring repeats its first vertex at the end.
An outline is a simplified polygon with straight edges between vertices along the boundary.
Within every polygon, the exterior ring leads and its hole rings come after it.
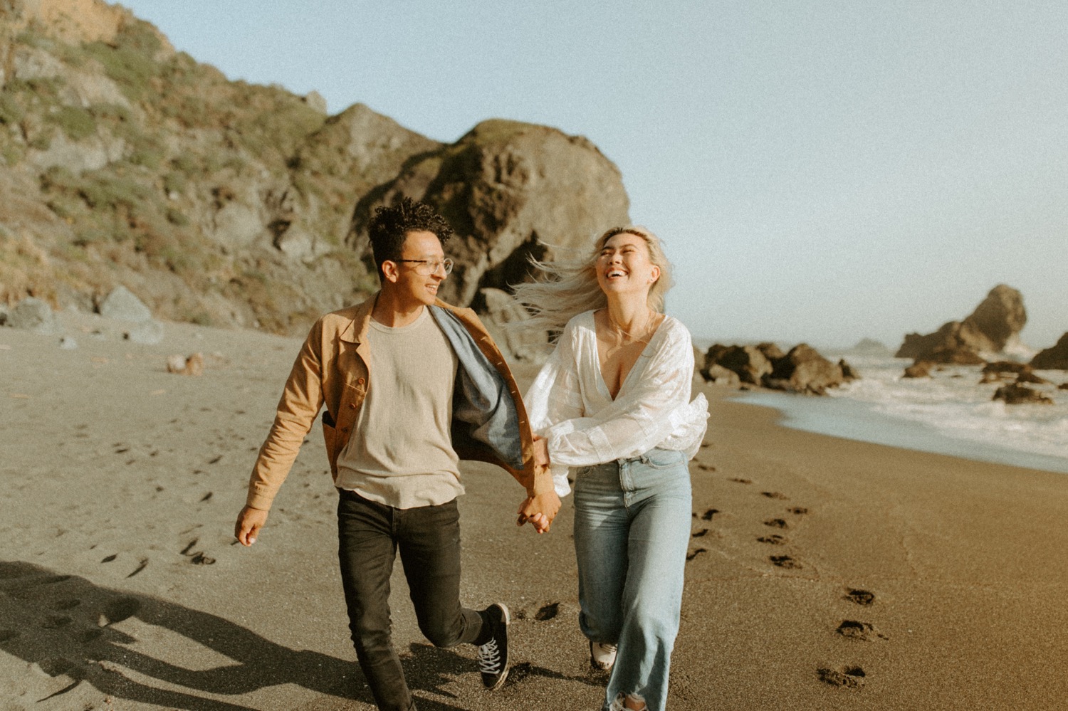
POLYGON ((504 121, 446 145, 356 105, 229 81, 101 0, 0 0, 0 302, 301 333, 376 288, 365 226, 402 194, 453 223, 445 296, 484 305, 539 240, 627 222, 588 141, 504 121))

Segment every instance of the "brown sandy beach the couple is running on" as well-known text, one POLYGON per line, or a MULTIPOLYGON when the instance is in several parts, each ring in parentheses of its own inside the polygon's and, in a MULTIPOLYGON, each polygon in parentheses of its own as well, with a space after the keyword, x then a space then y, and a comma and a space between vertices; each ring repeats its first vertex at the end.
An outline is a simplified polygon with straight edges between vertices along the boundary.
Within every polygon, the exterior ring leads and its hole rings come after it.
MULTIPOLYGON (((317 428, 260 541, 232 534, 299 339, 167 323, 146 346, 59 318, 77 348, 0 329, 0 711, 373 709, 317 428), (193 352, 202 376, 167 372, 193 352)), ((790 430, 695 386, 712 414, 670 709, 1065 708, 1068 477, 790 430)), ((509 606, 513 667, 484 691, 396 574, 419 708, 598 708, 570 501, 537 536, 508 475, 464 480, 465 602, 509 606)))

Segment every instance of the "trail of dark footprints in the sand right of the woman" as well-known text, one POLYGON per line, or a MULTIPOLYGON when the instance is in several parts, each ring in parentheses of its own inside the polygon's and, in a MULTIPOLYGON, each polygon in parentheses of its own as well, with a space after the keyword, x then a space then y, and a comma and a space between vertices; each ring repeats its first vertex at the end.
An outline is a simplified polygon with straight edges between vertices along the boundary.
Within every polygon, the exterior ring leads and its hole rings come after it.
MULTIPOLYGON (((695 468, 703 472, 716 471, 716 468, 710 464, 698 463, 695 464, 695 468)), ((751 479, 740 477, 732 477, 728 480, 735 484, 753 484, 751 479)), ((779 501, 788 500, 788 496, 778 491, 761 491, 760 495, 779 501)), ((711 521, 719 512, 719 509, 709 508, 700 516, 694 514, 693 517, 700 519, 701 521, 711 521)), ((794 525, 794 521, 797 517, 806 516, 808 514, 808 509, 803 506, 790 506, 786 509, 786 512, 791 515, 790 520, 787 520, 786 518, 771 518, 765 521, 764 525, 772 530, 785 532, 794 525)), ((708 528, 698 527, 693 534, 691 534, 691 537, 693 539, 704 538, 708 535, 708 528)), ((768 546, 785 546, 789 542, 786 536, 782 533, 771 532, 757 537, 756 540, 768 546)), ((702 546, 695 546, 687 554, 686 559, 688 562, 693 560, 702 553, 707 552, 708 549, 702 546)), ((768 560, 774 566, 789 570, 800 570, 804 567, 801 562, 789 555, 771 554, 768 556, 768 560)), ((869 607, 875 604, 875 594, 860 588, 846 588, 843 599, 848 600, 849 602, 852 602, 861 607, 869 607)), ((870 622, 862 622, 853 619, 843 620, 842 623, 838 625, 837 629, 835 629, 835 632, 847 639, 859 639, 862 642, 876 642, 890 638, 877 630, 870 622)), ((816 678, 832 686, 855 690, 861 689, 864 685, 866 675, 862 667, 847 664, 838 668, 819 667, 816 669, 816 678)))

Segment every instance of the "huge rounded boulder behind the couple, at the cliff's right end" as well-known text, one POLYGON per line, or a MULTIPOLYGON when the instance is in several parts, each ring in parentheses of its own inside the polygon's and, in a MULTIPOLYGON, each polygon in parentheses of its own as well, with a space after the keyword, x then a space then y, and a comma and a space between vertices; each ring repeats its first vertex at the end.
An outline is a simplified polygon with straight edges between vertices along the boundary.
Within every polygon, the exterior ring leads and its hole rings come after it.
POLYGON ((492 118, 456 143, 411 157, 399 174, 363 195, 346 243, 368 264, 367 226, 377 207, 402 196, 434 205, 456 236, 456 263, 438 296, 459 305, 484 288, 530 279, 530 257, 551 259, 630 222, 619 169, 593 143, 546 126, 492 118))

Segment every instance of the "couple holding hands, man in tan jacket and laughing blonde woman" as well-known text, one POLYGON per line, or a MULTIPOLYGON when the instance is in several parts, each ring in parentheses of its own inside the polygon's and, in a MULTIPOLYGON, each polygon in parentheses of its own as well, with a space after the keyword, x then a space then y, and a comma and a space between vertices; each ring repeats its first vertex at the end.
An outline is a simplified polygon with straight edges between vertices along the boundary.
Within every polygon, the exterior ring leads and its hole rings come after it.
POLYGON ((312 327, 260 449, 235 535, 251 546, 319 410, 339 492, 339 557, 357 659, 383 711, 414 700, 393 648, 399 550, 420 630, 478 647, 483 683, 508 672, 508 611, 464 607, 459 460, 494 463, 527 490, 518 523, 548 532, 575 481, 579 625, 610 670, 603 711, 664 708, 690 536, 688 461, 708 404, 690 400, 690 333, 662 313, 670 265, 642 227, 602 234, 577 262, 537 264, 516 287, 524 330, 557 334, 525 397, 470 309, 437 298, 453 231, 424 203, 370 225, 381 289, 312 327))

